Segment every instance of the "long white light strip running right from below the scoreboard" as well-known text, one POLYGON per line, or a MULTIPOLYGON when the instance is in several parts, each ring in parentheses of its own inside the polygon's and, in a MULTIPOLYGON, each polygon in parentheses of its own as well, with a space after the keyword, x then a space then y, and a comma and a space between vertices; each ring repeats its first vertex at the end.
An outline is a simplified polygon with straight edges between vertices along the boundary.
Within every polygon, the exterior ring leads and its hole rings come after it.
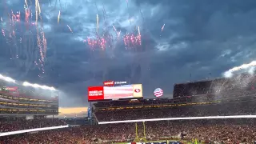
POLYGON ((228 116, 207 116, 207 117, 183 117, 183 118, 152 118, 136 119, 123 121, 98 122, 98 124, 127 123, 127 122, 154 122, 154 121, 174 121, 174 120, 192 120, 192 119, 225 119, 225 118, 256 118, 256 115, 228 115, 228 116))

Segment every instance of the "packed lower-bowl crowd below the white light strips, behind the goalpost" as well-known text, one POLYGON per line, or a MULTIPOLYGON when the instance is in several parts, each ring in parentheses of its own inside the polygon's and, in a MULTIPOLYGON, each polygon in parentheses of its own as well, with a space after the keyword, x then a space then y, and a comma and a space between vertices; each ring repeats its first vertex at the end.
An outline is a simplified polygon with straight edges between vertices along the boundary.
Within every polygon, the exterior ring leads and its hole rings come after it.
MULTIPOLYGON (((138 138, 144 138, 144 126, 137 124, 138 138)), ((183 120, 174 122, 145 122, 146 138, 183 139, 190 142, 215 143, 251 143, 256 140, 255 119, 218 119, 218 120, 183 120)), ((112 143, 134 141, 135 123, 108 124, 96 126, 77 126, 63 130, 46 130, 36 134, 18 134, 0 138, 1 144, 18 143, 54 143, 54 144, 90 144, 96 142, 112 143)))

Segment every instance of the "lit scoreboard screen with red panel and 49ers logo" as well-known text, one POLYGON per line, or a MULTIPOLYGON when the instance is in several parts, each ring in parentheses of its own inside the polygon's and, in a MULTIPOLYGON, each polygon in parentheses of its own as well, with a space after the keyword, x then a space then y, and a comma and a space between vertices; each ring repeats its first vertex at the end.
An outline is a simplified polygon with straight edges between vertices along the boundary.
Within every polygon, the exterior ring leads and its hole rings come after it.
POLYGON ((88 87, 88 101, 123 98, 143 98, 142 84, 88 87))

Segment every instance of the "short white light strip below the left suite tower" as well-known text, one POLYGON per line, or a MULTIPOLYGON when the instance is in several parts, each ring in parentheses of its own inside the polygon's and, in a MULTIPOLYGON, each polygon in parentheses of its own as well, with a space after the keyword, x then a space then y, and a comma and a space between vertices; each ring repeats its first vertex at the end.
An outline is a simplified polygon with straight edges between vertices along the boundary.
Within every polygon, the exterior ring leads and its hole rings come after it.
POLYGON ((10 132, 5 132, 5 133, 0 133, 0 137, 7 136, 7 135, 13 135, 13 134, 30 133, 30 132, 42 131, 42 130, 62 129, 62 128, 67 128, 67 127, 69 127, 69 126, 68 125, 66 125, 66 126, 51 126, 51 127, 37 128, 37 129, 10 131, 10 132))

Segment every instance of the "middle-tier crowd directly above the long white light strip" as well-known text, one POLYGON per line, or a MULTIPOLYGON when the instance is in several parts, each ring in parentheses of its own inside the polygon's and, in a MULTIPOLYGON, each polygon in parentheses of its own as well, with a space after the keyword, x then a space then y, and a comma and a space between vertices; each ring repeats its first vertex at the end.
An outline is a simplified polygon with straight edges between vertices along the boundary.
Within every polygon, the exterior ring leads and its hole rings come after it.
MULTIPOLYGON (((256 99, 255 99, 256 100, 256 99)), ((181 118, 202 116, 255 115, 255 100, 250 102, 216 103, 202 106, 179 106, 142 110, 100 110, 95 113, 99 122, 146 118, 181 118)))

